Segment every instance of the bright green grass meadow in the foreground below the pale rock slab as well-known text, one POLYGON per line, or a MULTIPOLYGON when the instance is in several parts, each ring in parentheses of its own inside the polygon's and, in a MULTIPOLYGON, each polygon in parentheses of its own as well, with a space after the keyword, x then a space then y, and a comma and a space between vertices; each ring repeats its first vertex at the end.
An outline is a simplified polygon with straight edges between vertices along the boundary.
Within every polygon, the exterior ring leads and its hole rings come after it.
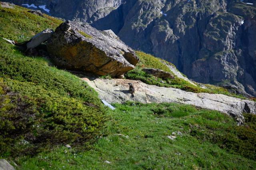
POLYGON ((58 148, 34 158, 20 159, 21 169, 256 168, 255 115, 245 115, 250 123, 237 127, 226 115, 189 105, 126 103, 114 106, 108 136, 98 140, 91 150, 75 152, 58 148), (177 135, 178 131, 182 136, 177 135), (166 137, 172 132, 178 136, 174 141, 166 137), (106 164, 106 160, 111 163, 106 164))

